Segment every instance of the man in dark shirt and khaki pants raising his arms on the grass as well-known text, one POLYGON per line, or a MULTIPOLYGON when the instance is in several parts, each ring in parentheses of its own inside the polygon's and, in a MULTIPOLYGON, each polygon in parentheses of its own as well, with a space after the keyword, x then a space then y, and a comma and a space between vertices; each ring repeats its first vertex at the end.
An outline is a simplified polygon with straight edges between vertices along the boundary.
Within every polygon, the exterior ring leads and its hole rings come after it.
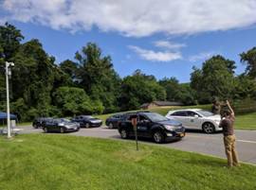
POLYGON ((235 135, 234 135, 234 112, 230 107, 229 101, 226 101, 229 110, 224 112, 224 118, 221 121, 221 127, 223 128, 224 146, 226 155, 228 158, 228 166, 239 166, 238 156, 235 148, 235 135))

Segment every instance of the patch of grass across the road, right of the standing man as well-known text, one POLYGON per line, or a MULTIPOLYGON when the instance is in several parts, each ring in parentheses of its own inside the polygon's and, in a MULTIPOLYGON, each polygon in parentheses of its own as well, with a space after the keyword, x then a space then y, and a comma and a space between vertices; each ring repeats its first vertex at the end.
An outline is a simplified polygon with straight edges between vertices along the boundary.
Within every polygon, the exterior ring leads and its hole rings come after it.
POLYGON ((237 115, 235 128, 239 130, 256 130, 256 112, 237 115))

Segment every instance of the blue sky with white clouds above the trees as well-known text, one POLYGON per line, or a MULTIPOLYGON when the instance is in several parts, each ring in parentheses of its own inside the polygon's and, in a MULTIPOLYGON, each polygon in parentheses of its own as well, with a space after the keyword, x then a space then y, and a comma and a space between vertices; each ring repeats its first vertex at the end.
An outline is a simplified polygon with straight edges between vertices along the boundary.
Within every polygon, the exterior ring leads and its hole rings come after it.
POLYGON ((56 63, 92 42, 122 78, 140 69, 189 82, 192 66, 214 55, 245 71, 239 54, 256 46, 255 9, 256 0, 0 0, 0 25, 39 39, 56 63))

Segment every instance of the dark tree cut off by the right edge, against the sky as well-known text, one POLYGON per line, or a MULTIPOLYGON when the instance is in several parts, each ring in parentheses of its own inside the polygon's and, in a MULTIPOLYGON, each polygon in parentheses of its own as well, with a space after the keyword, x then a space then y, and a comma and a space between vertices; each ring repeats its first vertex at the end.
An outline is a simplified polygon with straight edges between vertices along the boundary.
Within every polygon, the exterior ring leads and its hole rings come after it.
POLYGON ((247 64, 246 73, 251 78, 256 78, 256 47, 240 54, 241 61, 247 64))

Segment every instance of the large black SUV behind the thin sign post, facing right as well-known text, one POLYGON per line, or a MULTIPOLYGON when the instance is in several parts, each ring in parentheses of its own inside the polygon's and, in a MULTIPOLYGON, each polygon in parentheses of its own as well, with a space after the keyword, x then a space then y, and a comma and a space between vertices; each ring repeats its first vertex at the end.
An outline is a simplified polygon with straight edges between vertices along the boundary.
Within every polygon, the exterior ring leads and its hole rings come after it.
POLYGON ((185 128, 175 120, 170 120, 156 112, 128 112, 119 122, 121 138, 135 136, 132 118, 137 118, 137 136, 153 138, 155 143, 178 140, 185 136, 185 128))

